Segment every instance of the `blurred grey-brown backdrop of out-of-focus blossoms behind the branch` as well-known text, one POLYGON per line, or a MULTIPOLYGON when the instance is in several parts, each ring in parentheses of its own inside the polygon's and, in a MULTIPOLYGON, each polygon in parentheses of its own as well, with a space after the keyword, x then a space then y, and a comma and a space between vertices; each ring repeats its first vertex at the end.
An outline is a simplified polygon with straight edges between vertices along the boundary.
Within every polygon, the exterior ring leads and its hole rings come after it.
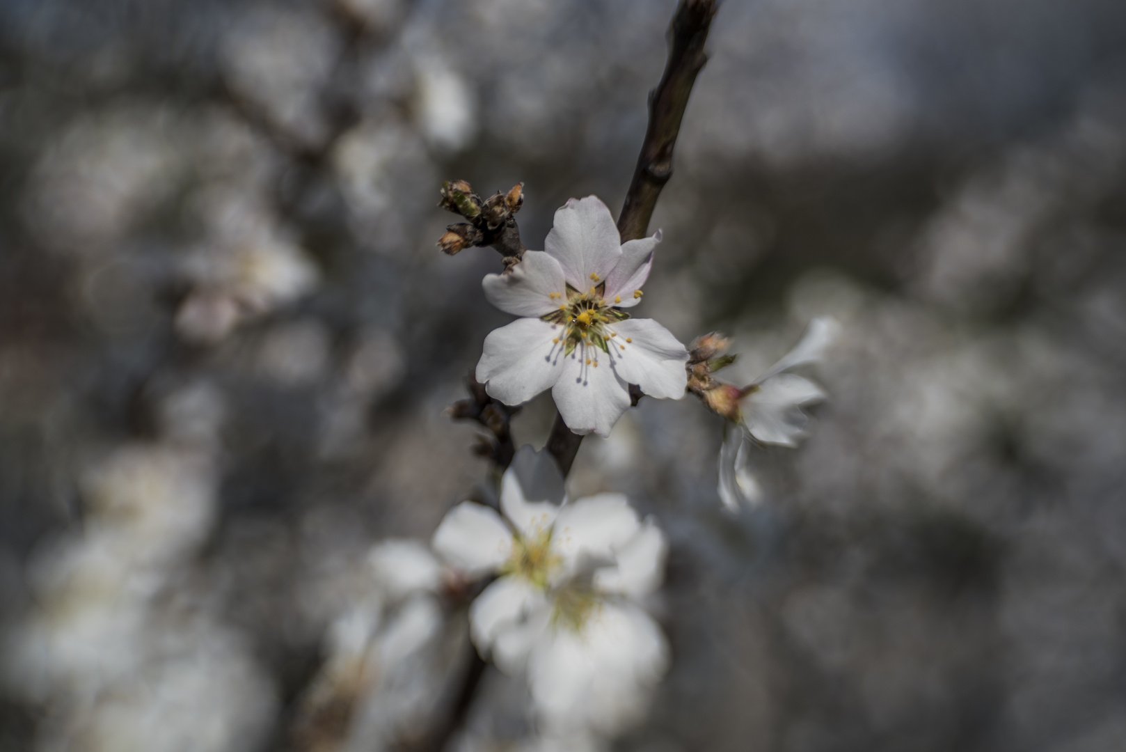
MULTIPOLYGON (((485 493, 443 410, 508 317, 438 186, 522 180, 531 248, 617 211, 673 8, 0 2, 0 749, 415 749, 440 662, 382 731, 307 708, 373 545, 485 493)), ((729 0, 709 47, 638 313, 748 379, 843 331, 758 508, 692 398, 584 442, 672 543, 617 744, 1126 749, 1126 5, 729 0)))

